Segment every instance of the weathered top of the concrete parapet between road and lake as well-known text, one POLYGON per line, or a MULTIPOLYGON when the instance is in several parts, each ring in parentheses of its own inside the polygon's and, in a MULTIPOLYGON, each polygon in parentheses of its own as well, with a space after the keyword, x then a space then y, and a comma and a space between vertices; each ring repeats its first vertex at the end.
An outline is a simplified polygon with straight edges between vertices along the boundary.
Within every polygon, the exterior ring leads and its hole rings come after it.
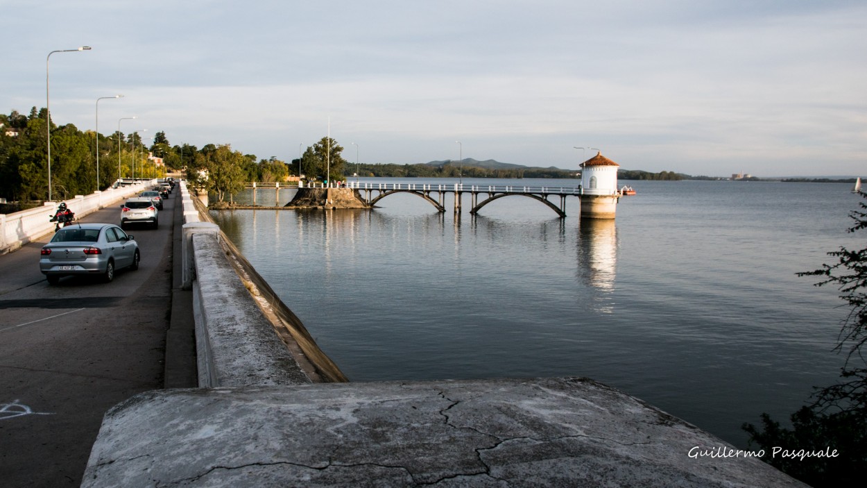
MULTIPOLYGON (((185 231, 191 225, 203 223, 186 224, 185 231)), ((192 307, 199 386, 310 383, 226 260, 218 229, 192 233, 190 240, 196 264, 192 307)))

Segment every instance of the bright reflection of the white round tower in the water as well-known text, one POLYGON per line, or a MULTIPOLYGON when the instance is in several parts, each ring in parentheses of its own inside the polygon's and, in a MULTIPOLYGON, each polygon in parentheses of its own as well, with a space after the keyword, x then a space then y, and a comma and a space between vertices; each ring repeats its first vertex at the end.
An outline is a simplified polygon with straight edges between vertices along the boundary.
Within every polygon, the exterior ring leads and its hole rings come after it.
POLYGON ((577 277, 594 288, 591 307, 598 312, 614 312, 611 293, 617 269, 617 228, 614 220, 583 219, 578 227, 577 277))

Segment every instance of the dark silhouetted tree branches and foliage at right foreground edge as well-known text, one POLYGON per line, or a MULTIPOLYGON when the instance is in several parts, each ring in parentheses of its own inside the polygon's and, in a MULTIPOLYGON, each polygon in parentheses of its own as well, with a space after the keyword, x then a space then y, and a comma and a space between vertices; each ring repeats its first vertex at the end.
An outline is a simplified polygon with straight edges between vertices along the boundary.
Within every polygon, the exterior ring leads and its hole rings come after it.
MULTIPOLYGON (((867 199, 867 194, 860 194, 867 199)), ((848 232, 867 228, 867 204, 859 202, 861 210, 853 210, 850 217, 855 225, 848 232)), ((849 306, 838 344, 838 352, 846 353, 840 371, 841 381, 819 388, 813 401, 791 416, 792 429, 762 413, 761 428, 744 424, 755 443, 766 451, 763 458, 768 464, 799 478, 813 486, 855 486, 864 482, 867 473, 867 247, 849 250, 840 247, 828 253, 836 258, 834 264, 799 273, 799 276, 821 276, 818 287, 833 285, 840 291, 840 299, 849 306), (781 458, 772 457, 772 448, 785 446, 788 450, 807 452, 831 448, 838 451, 834 458, 781 458), (858 481, 858 480, 861 481, 858 481)))

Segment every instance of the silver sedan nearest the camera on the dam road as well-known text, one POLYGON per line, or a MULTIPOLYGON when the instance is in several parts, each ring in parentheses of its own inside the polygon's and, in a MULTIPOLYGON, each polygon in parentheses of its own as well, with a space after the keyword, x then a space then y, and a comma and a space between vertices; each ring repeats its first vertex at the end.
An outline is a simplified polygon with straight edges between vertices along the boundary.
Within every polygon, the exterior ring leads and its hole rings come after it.
POLYGON ((108 282, 114 271, 139 268, 139 244, 114 224, 76 223, 57 231, 42 247, 39 271, 49 285, 63 276, 97 275, 108 282))

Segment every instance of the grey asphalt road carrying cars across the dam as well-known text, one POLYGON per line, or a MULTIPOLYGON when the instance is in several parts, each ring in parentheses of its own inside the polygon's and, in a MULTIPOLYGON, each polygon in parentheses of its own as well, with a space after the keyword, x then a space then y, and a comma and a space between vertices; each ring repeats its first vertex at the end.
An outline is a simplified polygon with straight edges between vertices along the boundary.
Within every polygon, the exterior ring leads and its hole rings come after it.
MULTIPOLYGON (((163 387, 178 194, 166 201, 160 228, 127 229, 139 242, 140 268, 112 283, 69 277, 49 286, 37 262, 50 235, 0 256, 3 487, 80 485, 103 413, 163 387)), ((120 209, 81 221, 119 222, 120 209)))

